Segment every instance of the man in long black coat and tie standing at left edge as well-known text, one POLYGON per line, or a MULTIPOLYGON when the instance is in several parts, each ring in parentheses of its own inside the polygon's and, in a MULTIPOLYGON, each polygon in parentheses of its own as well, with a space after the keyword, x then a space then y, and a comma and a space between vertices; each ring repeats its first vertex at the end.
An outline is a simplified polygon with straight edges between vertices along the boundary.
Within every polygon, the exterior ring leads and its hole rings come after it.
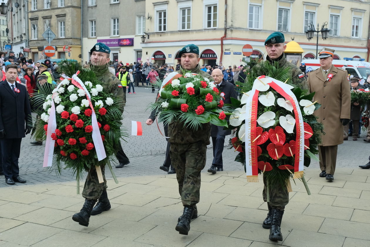
POLYGON ((7 184, 26 183, 19 176, 21 140, 31 132, 31 106, 26 87, 17 83, 17 66, 5 68, 6 80, 0 83, 0 143, 3 172, 7 184))

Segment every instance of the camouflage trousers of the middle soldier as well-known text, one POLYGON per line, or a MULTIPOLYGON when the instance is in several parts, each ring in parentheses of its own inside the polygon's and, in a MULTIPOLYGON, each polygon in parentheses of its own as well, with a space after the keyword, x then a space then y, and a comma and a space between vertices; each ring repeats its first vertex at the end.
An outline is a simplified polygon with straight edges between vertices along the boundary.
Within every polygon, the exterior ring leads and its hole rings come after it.
POLYGON ((172 166, 176 170, 179 184, 179 194, 184 206, 195 205, 199 202, 201 188, 201 171, 206 164, 207 145, 196 143, 171 143, 169 155, 172 166))

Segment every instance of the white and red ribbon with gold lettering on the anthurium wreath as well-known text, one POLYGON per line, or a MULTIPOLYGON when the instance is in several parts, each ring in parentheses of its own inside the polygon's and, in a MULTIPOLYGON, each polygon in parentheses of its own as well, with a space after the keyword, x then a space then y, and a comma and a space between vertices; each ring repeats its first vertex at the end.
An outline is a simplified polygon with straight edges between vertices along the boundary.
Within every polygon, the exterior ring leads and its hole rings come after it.
MULTIPOLYGON (((260 76, 259 79, 265 78, 260 76)), ((293 111, 296 120, 296 148, 294 151, 294 177, 303 177, 303 161, 304 161, 304 148, 305 148, 305 132, 303 127, 302 113, 299 108, 298 100, 295 94, 290 90, 290 87, 282 81, 270 78, 268 84, 277 93, 285 97, 292 103, 293 111)), ((246 119, 245 119, 245 161, 246 161, 246 176, 248 182, 258 182, 258 158, 257 158, 257 145, 252 143, 257 137, 256 134, 256 121, 257 121, 257 109, 258 109, 258 94, 259 91, 253 84, 250 96, 246 101, 246 119)))

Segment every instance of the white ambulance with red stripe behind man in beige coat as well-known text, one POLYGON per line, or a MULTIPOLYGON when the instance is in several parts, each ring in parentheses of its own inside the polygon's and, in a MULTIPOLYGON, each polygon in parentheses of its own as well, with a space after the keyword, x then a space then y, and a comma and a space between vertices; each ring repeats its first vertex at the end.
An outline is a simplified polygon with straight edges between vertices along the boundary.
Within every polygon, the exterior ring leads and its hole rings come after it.
MULTIPOLYGON (((344 57, 344 60, 333 60, 333 65, 337 68, 347 70, 347 73, 353 76, 359 76, 366 81, 370 74, 370 63, 365 59, 344 57)), ((303 59, 302 63, 306 65, 306 73, 320 68, 319 59, 303 59)))

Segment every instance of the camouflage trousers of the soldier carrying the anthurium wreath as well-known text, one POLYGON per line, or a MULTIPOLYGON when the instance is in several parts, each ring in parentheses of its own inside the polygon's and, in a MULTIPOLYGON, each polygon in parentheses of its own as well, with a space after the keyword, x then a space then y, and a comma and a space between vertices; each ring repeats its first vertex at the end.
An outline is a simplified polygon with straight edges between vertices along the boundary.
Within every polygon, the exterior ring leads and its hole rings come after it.
MULTIPOLYGON (((286 204, 289 203, 288 189, 282 187, 280 184, 269 184, 270 201, 267 203, 269 210, 276 208, 277 210, 284 211, 286 204)), ((267 202, 267 181, 265 174, 263 174, 263 201, 267 202)))

